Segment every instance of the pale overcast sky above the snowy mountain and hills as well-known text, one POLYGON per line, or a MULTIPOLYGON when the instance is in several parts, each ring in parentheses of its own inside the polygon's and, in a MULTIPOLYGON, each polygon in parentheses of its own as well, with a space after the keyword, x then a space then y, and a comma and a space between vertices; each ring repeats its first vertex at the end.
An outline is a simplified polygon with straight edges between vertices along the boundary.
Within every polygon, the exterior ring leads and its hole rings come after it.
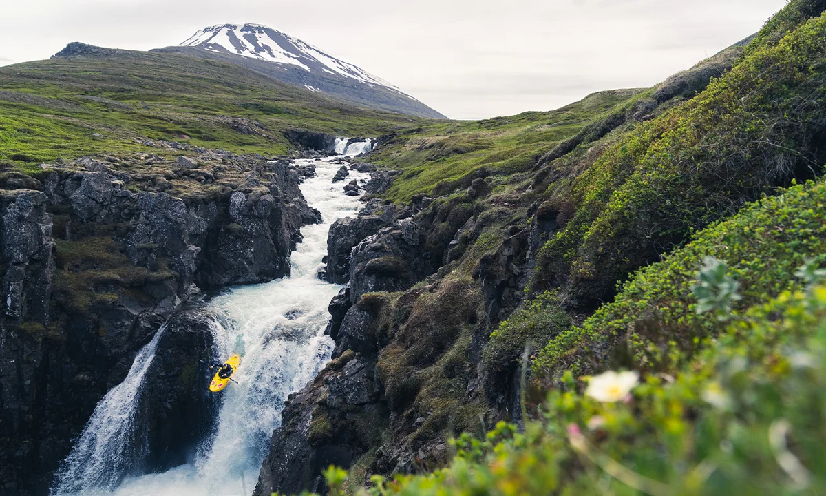
POLYGON ((785 0, 0 0, 0 65, 69 41, 178 45, 265 24, 387 79, 445 115, 551 110, 648 87, 751 35, 785 0))

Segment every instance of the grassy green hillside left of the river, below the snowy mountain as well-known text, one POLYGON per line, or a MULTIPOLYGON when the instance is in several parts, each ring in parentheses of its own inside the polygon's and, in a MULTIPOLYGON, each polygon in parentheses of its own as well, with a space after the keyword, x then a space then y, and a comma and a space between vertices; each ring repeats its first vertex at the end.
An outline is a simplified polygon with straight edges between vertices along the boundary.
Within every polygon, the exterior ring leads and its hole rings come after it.
POLYGON ((379 136, 417 122, 187 55, 109 50, 0 68, 0 162, 21 169, 157 152, 135 138, 278 155, 290 149, 282 131, 293 127, 379 136), (231 118, 254 125, 238 131, 231 118))

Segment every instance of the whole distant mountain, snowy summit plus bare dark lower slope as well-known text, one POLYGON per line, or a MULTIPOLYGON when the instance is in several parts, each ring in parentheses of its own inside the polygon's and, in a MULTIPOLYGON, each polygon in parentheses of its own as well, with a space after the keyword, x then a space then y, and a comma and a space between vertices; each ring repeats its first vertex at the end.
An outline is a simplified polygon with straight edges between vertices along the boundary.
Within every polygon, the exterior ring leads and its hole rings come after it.
POLYGON ((446 118, 364 69, 260 24, 209 26, 178 46, 154 51, 231 60, 284 83, 362 106, 417 117, 446 118))

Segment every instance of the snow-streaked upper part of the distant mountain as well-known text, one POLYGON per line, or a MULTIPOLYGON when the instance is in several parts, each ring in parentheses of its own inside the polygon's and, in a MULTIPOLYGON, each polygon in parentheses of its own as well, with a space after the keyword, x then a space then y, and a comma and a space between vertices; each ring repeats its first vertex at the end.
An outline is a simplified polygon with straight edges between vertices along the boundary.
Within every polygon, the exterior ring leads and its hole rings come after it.
MULTIPOLYGON (((260 24, 219 24, 198 31, 182 47, 197 47, 216 53, 241 55, 303 69, 354 79, 370 87, 380 86, 401 93, 387 81, 367 71, 325 54, 297 38, 260 24)), ((316 88, 313 90, 318 91, 316 88)))

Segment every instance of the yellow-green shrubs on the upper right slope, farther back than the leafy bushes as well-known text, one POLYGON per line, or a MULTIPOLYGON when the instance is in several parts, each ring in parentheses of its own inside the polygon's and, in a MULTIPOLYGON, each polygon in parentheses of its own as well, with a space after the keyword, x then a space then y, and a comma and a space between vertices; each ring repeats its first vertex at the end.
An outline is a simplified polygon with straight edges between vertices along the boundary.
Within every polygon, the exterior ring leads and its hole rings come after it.
POLYGON ((576 179, 575 217, 539 255, 534 289, 583 308, 615 284, 796 175, 819 174, 826 16, 763 45, 703 93, 638 126, 576 179))

